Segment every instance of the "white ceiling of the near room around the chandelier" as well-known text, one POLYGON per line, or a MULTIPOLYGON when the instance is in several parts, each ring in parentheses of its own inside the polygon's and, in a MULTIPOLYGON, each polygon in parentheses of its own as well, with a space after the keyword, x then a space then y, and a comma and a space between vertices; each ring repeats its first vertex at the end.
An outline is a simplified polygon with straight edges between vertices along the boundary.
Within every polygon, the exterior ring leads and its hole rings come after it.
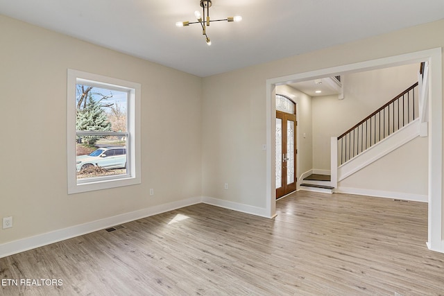
MULTIPOLYGON (((0 0, 0 14, 205 77, 444 19, 444 0, 0 0)), ((415 42, 415 40, 412 40, 415 42)))

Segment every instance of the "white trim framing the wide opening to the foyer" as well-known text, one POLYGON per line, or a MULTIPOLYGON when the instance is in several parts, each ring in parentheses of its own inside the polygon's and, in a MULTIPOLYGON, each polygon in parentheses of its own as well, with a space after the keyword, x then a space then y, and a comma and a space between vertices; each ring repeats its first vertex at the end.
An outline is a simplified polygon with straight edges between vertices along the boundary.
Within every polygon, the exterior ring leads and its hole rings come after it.
MULTIPOLYGON (((266 214, 276 216, 275 198, 275 86, 289 82, 314 80, 325 76, 339 76, 345 73, 369 71, 395 67, 414 62, 429 62, 429 211, 428 241, 429 250, 444 252, 443 234, 443 64, 442 49, 427 49, 387 58, 345 64, 289 76, 266 80, 266 214)), ((297 103, 297 102, 296 102, 297 103)))

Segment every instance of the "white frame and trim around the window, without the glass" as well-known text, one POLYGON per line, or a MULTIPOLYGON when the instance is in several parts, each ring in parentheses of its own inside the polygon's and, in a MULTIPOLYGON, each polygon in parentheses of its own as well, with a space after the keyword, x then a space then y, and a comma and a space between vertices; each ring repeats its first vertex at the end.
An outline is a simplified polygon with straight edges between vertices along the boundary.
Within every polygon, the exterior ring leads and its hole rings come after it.
POLYGON ((140 92, 141 85, 117 78, 68 69, 67 73, 67 178, 68 194, 140 184, 140 92), (127 173, 89 180, 77 180, 76 174, 76 85, 92 84, 128 92, 127 173))

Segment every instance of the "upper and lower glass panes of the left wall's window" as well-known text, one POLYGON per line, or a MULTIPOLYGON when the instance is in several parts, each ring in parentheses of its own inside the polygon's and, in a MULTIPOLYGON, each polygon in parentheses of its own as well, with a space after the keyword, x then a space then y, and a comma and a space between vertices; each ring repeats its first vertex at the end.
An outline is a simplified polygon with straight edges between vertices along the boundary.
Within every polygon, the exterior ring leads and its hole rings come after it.
POLYGON ((98 134, 77 134, 77 180, 126 175, 126 137, 101 132, 126 132, 128 92, 99 85, 76 85, 76 130, 98 134), (120 153, 117 153, 117 149, 120 153))

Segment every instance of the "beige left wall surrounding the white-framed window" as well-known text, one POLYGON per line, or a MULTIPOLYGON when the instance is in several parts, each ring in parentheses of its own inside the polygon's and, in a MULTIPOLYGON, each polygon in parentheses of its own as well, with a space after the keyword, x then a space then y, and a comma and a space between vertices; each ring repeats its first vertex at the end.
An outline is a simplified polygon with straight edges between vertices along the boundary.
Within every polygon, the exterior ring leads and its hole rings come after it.
POLYGON ((200 197, 201 78, 8 17, 0 36, 0 244, 200 197), (67 195, 68 68, 142 84, 142 184, 67 195))

